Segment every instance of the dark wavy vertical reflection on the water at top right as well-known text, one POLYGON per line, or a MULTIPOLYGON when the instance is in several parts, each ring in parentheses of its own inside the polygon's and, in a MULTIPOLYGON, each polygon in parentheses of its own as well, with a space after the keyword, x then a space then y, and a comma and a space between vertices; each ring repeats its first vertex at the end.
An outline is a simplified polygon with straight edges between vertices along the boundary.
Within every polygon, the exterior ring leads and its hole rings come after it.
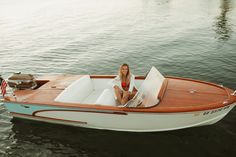
POLYGON ((232 29, 230 28, 227 13, 231 9, 231 0, 221 0, 220 15, 216 17, 215 31, 219 40, 228 40, 232 29))

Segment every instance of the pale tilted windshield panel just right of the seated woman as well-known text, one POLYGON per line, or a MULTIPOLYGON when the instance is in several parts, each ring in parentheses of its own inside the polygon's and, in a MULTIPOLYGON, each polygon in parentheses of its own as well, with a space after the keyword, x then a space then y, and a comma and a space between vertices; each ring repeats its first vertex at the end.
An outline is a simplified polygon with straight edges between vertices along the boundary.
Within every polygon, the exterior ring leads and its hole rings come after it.
POLYGON ((155 67, 152 67, 139 89, 139 92, 144 95, 143 102, 146 107, 159 102, 157 96, 164 80, 165 77, 155 67))

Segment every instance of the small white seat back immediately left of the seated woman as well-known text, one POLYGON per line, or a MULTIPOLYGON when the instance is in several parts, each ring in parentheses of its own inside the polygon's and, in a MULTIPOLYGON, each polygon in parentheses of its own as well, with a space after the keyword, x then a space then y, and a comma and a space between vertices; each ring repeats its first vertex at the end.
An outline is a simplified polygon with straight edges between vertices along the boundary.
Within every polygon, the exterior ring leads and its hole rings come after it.
POLYGON ((110 89, 104 89, 102 94, 96 100, 95 104, 116 106, 116 99, 113 95, 113 92, 110 89))

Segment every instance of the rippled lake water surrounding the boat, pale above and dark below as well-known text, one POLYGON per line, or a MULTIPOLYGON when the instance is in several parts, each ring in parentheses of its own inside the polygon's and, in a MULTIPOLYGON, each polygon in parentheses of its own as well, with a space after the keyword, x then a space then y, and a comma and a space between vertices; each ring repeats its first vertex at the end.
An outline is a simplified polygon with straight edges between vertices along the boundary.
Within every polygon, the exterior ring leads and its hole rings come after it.
MULTIPOLYGON (((0 73, 164 75, 236 89, 235 0, 0 0, 0 73)), ((100 131, 0 111, 0 156, 235 156, 236 109, 215 125, 100 131)))

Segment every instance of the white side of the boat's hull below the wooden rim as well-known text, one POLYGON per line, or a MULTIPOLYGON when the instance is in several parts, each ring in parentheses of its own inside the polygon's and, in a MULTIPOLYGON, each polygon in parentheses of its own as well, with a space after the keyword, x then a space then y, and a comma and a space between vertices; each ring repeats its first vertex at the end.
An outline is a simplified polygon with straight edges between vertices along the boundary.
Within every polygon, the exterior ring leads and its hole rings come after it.
POLYGON ((214 124, 225 117, 235 105, 236 103, 212 110, 178 113, 41 110, 36 112, 34 116, 16 113, 13 113, 13 116, 86 128, 154 132, 214 124))

